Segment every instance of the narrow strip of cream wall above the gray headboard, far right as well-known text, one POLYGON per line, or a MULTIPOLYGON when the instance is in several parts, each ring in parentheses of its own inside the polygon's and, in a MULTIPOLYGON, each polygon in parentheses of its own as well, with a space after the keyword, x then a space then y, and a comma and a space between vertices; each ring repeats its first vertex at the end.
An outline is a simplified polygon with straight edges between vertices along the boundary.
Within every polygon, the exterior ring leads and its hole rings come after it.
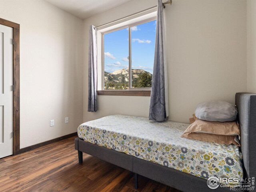
POLYGON ((256 93, 256 1, 247 0, 247 92, 256 93))

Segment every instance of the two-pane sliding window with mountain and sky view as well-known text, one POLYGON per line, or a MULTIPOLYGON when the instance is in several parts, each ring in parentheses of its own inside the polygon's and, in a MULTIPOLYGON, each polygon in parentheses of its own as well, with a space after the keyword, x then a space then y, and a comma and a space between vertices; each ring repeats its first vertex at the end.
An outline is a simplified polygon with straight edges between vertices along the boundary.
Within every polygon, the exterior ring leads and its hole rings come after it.
POLYGON ((103 33, 103 90, 150 90, 155 38, 155 18, 103 33))

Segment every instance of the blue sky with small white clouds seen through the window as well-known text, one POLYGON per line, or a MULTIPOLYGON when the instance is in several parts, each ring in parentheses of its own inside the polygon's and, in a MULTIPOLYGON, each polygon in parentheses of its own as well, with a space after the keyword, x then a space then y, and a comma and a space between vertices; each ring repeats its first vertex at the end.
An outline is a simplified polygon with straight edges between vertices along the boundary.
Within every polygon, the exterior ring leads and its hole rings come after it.
MULTIPOLYGON (((153 73, 156 21, 132 27, 132 69, 153 73)), ((128 28, 104 35, 104 65, 106 72, 128 68, 128 28)))

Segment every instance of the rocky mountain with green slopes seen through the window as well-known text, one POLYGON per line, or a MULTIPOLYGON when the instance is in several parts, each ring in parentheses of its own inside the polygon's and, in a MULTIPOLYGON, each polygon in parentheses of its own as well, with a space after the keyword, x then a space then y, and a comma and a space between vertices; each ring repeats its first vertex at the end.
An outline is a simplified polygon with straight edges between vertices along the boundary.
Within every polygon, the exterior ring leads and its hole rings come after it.
MULTIPOLYGON (((132 81, 136 80, 140 74, 147 73, 150 76, 152 74, 143 69, 132 69, 132 81)), ((128 69, 119 69, 112 73, 104 72, 105 83, 128 83, 129 79, 129 70, 128 69)))

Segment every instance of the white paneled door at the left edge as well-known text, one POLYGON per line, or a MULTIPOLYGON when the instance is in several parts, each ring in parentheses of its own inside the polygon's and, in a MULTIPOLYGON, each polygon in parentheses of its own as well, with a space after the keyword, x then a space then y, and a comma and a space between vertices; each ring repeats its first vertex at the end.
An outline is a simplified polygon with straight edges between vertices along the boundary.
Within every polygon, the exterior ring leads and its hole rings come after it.
POLYGON ((0 158, 12 155, 12 28, 0 25, 0 158))

